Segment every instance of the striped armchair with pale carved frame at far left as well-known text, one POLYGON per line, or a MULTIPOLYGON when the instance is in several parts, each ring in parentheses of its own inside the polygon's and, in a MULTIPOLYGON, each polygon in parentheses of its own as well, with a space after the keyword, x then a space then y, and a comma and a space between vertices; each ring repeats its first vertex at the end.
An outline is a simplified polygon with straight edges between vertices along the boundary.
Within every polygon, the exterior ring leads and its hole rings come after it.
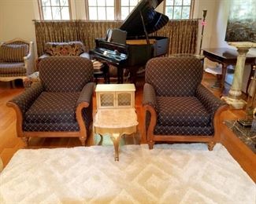
POLYGON ((0 81, 24 79, 35 67, 33 42, 15 38, 0 44, 0 81))

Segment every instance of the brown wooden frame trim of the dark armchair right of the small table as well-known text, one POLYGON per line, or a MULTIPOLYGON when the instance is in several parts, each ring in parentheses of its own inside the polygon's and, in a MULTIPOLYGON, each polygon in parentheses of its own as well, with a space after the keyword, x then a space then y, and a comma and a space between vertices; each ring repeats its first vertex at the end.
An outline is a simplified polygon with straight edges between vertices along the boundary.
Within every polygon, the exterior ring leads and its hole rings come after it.
POLYGON ((220 115, 223 111, 228 110, 228 105, 223 105, 217 109, 213 118, 213 127, 214 127, 214 135, 213 136, 191 136, 191 135, 155 135, 154 127, 157 124, 157 113, 149 104, 143 106, 143 115, 144 115, 144 133, 146 134, 147 143, 150 149, 153 149, 156 141, 167 141, 167 142, 205 142, 208 145, 209 151, 212 151, 215 144, 221 141, 221 133, 220 133, 220 115), (148 129, 146 127, 146 114, 147 111, 150 112, 150 124, 148 129))

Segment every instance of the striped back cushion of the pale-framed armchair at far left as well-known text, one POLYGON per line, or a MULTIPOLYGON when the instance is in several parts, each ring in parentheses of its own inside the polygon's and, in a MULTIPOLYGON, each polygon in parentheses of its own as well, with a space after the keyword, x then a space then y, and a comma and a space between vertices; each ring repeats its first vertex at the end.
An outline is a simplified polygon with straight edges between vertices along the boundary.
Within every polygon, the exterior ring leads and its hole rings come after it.
POLYGON ((27 55, 27 44, 3 44, 0 47, 0 58, 4 62, 22 62, 27 55))

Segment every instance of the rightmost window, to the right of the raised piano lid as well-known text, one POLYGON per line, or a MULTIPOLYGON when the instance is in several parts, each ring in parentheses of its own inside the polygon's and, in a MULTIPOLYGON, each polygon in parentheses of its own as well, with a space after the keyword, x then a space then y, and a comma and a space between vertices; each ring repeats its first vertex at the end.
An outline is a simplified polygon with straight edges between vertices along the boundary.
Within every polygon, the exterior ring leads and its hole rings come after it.
POLYGON ((193 0, 165 0, 165 15, 169 19, 189 19, 192 16, 193 0))

